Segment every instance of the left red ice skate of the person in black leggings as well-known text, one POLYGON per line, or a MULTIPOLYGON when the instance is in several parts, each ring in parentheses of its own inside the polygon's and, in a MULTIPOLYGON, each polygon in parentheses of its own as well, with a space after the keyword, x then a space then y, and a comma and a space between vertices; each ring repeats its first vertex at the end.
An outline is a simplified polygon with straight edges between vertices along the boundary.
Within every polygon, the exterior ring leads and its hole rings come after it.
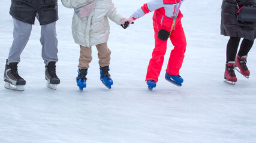
POLYGON ((234 74, 234 65, 234 61, 229 61, 228 63, 226 63, 225 69, 224 82, 227 82, 231 85, 235 85, 237 81, 236 74, 234 74))

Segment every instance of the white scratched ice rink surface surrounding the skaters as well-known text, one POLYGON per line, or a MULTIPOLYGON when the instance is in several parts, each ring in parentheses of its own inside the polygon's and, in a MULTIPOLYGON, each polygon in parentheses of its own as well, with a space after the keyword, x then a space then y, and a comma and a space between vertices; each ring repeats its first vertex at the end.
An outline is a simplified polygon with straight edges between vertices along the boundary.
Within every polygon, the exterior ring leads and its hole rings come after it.
MULTIPOLYGON (((144 79, 154 48, 153 13, 126 30, 110 21, 112 89, 100 81, 94 47, 88 85, 80 92, 75 80, 80 49, 71 35, 73 10, 58 2, 61 84, 56 91, 46 87, 36 21, 18 67, 25 91, 10 91, 0 82, 0 143, 256 142, 256 46, 248 54, 249 79, 236 72, 235 86, 224 83, 228 37, 220 35, 221 0, 183 2, 188 45, 180 75, 185 82, 178 87, 164 79, 173 48, 168 41, 159 82, 151 92, 144 79)), ((129 16, 147 1, 113 2, 129 16)), ((0 1, 0 75, 13 41, 10 3, 0 1)))

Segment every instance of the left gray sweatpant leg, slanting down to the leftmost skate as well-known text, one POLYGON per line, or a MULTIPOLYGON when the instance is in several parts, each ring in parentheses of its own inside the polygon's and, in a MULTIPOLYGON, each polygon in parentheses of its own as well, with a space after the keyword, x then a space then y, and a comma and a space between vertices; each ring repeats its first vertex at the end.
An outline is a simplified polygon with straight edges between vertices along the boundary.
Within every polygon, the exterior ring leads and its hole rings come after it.
POLYGON ((20 54, 28 43, 32 24, 13 18, 13 44, 11 45, 8 61, 20 61, 20 54))

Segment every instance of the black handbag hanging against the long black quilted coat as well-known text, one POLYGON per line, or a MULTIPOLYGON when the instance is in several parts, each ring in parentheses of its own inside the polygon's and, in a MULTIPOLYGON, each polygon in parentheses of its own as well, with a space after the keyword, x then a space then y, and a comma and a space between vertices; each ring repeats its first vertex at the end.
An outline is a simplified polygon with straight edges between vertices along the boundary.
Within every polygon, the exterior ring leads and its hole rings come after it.
POLYGON ((240 22, 256 22, 256 7, 245 5, 237 11, 237 20, 240 22))

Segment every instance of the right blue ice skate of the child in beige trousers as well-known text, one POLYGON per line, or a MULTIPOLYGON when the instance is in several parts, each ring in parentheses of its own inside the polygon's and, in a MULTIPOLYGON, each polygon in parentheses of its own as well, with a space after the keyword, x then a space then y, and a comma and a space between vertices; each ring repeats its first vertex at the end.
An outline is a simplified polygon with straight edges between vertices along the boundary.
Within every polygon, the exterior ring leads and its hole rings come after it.
POLYGON ((110 77, 110 74, 109 74, 109 66, 106 66, 106 67, 101 67, 100 66, 100 74, 101 74, 101 82, 103 82, 103 84, 111 89, 111 86, 113 85, 113 80, 111 79, 110 77))

